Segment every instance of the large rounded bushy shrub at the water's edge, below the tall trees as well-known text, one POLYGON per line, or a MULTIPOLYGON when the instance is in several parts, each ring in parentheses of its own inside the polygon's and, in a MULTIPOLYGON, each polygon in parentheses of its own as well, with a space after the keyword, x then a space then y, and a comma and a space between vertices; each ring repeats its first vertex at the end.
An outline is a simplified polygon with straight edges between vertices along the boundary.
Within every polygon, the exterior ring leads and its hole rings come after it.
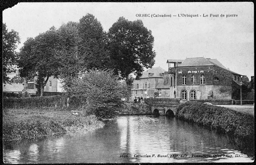
POLYGON ((69 93, 86 97, 85 109, 100 119, 110 119, 123 105, 126 87, 118 81, 112 70, 88 70, 73 79, 69 93))

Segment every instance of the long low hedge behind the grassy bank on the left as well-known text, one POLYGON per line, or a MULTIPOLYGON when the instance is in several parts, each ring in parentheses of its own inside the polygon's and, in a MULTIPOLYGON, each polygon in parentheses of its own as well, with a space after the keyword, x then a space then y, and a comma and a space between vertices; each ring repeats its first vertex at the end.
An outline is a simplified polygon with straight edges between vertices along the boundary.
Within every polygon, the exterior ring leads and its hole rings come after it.
MULTIPOLYGON (((3 108, 42 108, 42 107, 58 107, 67 106, 66 95, 55 95, 47 97, 24 97, 24 98, 3 98, 3 108)), ((70 97, 70 109, 81 107, 85 102, 82 97, 70 97)))

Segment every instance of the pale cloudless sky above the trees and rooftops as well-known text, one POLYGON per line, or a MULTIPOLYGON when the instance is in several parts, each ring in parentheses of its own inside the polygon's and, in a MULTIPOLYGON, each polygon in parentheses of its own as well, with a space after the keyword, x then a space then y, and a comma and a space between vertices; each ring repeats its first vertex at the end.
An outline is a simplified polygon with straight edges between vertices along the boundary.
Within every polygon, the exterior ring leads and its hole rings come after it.
POLYGON ((251 79, 254 76, 253 10, 252 2, 24 2, 5 9, 3 23, 8 30, 19 33, 19 51, 28 37, 36 37, 68 21, 78 22, 87 13, 93 14, 106 32, 119 17, 131 21, 140 19, 155 38, 153 67, 160 66, 167 71, 167 59, 205 57, 217 59, 231 71, 251 79), (149 17, 139 17, 139 14, 149 17), (171 17, 151 17, 153 14, 171 17), (198 14, 198 17, 182 17, 183 14, 198 14), (206 15, 208 17, 204 17, 206 15))

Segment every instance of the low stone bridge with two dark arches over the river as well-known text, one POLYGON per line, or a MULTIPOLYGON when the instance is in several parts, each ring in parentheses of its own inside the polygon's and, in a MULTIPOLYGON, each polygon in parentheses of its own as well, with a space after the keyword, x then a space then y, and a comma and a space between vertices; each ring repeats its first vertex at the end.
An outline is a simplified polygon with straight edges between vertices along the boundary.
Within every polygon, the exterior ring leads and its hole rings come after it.
POLYGON ((147 104, 151 106, 151 112, 155 115, 175 116, 176 107, 180 104, 181 98, 153 98, 148 99, 147 104))

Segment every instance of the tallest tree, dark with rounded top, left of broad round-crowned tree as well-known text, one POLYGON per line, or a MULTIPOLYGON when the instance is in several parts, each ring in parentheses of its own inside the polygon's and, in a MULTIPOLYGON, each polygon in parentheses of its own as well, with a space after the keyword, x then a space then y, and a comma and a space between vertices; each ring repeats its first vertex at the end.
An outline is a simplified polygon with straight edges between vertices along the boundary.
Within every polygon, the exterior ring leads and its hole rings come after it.
POLYGON ((92 15, 86 14, 79 20, 78 33, 81 37, 79 50, 84 56, 84 66, 87 69, 105 69, 109 66, 107 49, 107 34, 100 22, 92 15))

